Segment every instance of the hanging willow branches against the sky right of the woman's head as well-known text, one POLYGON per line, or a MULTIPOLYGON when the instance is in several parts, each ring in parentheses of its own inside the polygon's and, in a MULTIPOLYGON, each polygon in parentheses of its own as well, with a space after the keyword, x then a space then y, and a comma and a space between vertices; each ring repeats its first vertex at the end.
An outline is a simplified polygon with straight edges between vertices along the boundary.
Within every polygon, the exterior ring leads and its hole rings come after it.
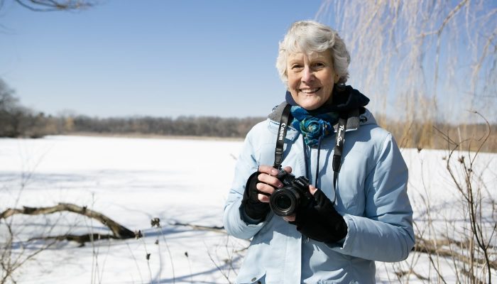
POLYGON ((373 111, 411 122, 460 124, 471 111, 496 119, 496 1, 324 0, 317 20, 344 38, 349 82, 373 111))

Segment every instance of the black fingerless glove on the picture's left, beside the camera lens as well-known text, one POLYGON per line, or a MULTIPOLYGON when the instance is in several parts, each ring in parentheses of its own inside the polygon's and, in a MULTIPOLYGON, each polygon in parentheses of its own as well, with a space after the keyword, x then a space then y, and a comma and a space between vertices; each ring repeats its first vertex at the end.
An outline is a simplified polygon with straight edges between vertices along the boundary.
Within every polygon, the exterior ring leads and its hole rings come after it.
POLYGON ((245 214, 254 220, 264 220, 269 213, 269 203, 260 202, 257 198, 259 191, 257 190, 258 175, 261 173, 253 173, 247 184, 245 185, 244 199, 241 200, 241 208, 245 214))

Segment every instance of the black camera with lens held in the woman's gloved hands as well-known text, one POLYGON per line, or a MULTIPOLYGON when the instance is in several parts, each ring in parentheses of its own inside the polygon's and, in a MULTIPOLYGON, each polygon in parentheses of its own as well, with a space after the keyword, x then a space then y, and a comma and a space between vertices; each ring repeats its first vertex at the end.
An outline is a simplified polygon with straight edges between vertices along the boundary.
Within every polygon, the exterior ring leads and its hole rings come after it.
POLYGON ((309 192, 309 180, 305 177, 280 170, 277 176, 283 187, 276 189, 269 199, 269 206, 278 216, 290 216, 298 207, 306 206, 312 200, 309 192))

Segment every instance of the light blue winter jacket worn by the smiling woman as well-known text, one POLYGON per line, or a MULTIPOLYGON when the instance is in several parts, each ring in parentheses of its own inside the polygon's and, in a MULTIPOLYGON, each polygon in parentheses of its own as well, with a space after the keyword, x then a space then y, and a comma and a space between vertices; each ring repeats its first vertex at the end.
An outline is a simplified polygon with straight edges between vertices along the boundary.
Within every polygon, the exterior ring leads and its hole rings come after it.
MULTIPOLYGON (((273 165, 282 106, 247 134, 224 207, 224 227, 239 239, 253 238, 236 283, 375 283, 374 261, 402 261, 414 246, 408 169, 391 133, 366 110, 347 123, 336 209, 348 226, 344 240, 324 244, 302 236, 272 212, 251 224, 240 212, 246 181, 258 165, 273 165), (277 119, 276 119, 277 118, 277 119)), ((295 177, 305 175, 302 136, 291 127, 284 160, 295 177)), ((320 189, 334 199, 334 135, 322 141, 320 189)), ((307 155, 315 180, 317 148, 307 155)))

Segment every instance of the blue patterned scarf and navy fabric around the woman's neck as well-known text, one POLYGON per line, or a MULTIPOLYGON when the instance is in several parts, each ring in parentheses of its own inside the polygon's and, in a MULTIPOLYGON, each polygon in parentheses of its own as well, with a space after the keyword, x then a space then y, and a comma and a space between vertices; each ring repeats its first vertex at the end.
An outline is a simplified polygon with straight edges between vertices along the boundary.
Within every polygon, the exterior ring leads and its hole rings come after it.
POLYGON ((318 109, 308 111, 295 102, 290 92, 286 93, 286 102, 292 106, 292 126, 302 133, 308 146, 316 146, 320 139, 334 133, 333 126, 338 123, 339 113, 364 107, 369 102, 364 94, 351 86, 336 85, 332 96, 332 104, 324 104, 318 109))

